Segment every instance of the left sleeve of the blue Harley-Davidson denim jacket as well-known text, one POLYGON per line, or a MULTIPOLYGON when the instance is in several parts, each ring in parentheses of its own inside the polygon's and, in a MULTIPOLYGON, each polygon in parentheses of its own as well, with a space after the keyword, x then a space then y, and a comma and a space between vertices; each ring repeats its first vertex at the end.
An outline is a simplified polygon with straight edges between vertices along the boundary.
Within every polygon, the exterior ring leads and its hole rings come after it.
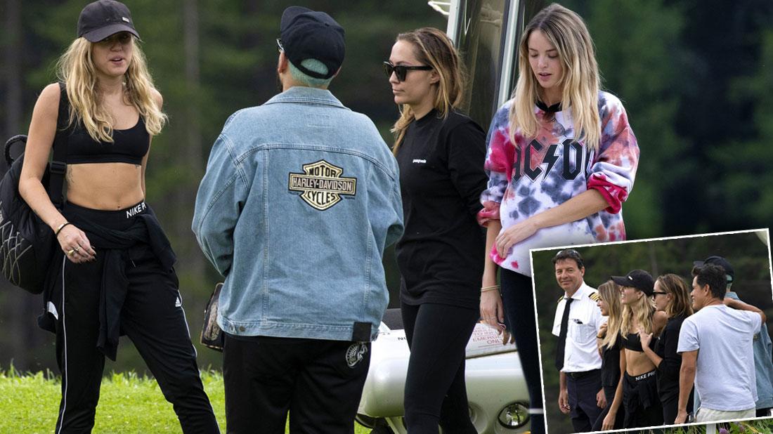
POLYGON ((220 134, 196 194, 191 229, 206 258, 224 277, 233 263, 233 229, 246 197, 246 178, 233 155, 233 144, 220 134))

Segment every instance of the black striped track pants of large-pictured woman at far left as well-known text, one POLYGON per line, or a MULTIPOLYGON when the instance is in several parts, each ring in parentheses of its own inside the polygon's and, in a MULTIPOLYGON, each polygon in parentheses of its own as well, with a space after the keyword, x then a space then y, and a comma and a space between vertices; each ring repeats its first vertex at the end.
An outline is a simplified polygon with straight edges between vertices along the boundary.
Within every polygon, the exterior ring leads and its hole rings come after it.
MULTIPOLYGON (((65 209, 111 229, 128 225, 126 212, 65 209), (96 220, 100 221, 96 221, 96 220), (123 220, 127 220, 123 222, 123 220)), ((88 236, 88 234, 87 234, 88 236)), ((174 270, 162 270, 146 245, 128 251, 128 294, 121 310, 121 331, 139 351, 158 381, 164 397, 172 402, 182 431, 220 432, 199 378, 196 349, 190 340, 178 280, 174 270)), ((90 432, 99 401, 104 354, 97 349, 99 299, 104 255, 75 264, 62 258, 61 287, 54 290, 56 305, 56 361, 62 372, 62 400, 56 434, 90 432)))

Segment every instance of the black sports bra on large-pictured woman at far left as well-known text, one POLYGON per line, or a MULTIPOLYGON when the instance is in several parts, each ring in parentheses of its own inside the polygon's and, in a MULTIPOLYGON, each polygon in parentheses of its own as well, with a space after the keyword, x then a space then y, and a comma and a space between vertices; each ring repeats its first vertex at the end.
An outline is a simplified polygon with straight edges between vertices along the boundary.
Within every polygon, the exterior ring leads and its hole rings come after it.
MULTIPOLYGON (((62 86, 60 98, 67 98, 62 86)), ((69 109, 69 101, 66 101, 69 109)), ((63 113, 67 113, 64 111, 63 113)), ((128 130, 113 130, 113 143, 94 141, 82 123, 63 131, 67 140, 67 164, 80 163, 129 163, 142 164, 142 158, 150 148, 150 134, 145 130, 145 120, 140 116, 137 124, 128 130)))

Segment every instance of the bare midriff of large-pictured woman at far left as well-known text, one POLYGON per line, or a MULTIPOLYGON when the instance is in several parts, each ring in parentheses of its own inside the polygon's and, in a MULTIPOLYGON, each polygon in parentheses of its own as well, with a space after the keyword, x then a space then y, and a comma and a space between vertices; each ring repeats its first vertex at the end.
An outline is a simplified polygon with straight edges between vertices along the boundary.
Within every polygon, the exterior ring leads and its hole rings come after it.
POLYGON ((142 167, 129 163, 67 164, 67 202, 116 211, 142 202, 142 167))

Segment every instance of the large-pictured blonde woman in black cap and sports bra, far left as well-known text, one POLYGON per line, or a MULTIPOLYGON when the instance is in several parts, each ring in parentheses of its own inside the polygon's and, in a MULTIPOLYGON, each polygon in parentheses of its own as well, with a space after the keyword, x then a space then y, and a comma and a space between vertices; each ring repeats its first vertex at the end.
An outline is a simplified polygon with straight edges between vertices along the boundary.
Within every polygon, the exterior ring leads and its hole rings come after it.
POLYGON ((50 226, 60 251, 42 326, 56 333, 62 398, 56 432, 90 432, 104 358, 126 334, 148 364, 182 431, 219 432, 199 378, 175 254, 145 204, 152 137, 166 121, 131 12, 99 0, 83 8, 29 124, 19 193, 50 226), (52 147, 66 151, 66 203, 41 184, 52 147))

